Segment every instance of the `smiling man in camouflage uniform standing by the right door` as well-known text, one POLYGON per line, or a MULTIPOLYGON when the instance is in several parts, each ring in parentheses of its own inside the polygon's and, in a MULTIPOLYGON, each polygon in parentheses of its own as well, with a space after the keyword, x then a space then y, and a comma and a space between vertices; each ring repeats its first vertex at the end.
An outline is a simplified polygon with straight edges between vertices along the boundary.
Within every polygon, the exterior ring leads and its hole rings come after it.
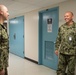
POLYGON ((65 13, 64 19, 66 23, 59 27, 55 44, 55 54, 59 54, 57 75, 75 75, 76 23, 70 11, 65 13))

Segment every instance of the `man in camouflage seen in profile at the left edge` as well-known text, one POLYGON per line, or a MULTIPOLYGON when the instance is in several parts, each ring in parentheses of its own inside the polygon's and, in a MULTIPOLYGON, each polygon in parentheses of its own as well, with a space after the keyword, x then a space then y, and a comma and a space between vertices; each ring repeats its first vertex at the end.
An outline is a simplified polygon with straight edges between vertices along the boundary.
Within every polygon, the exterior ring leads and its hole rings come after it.
POLYGON ((7 75, 9 44, 6 27, 3 23, 8 16, 8 9, 4 5, 0 5, 0 75, 7 75))

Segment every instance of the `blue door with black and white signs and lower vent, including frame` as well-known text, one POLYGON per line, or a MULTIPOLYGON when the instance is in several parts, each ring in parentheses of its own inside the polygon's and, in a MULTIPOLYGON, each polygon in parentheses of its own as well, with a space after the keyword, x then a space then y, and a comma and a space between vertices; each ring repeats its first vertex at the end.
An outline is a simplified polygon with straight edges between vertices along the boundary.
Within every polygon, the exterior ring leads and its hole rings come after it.
POLYGON ((39 64, 57 69, 55 41, 58 32, 58 7, 39 13, 39 64))

